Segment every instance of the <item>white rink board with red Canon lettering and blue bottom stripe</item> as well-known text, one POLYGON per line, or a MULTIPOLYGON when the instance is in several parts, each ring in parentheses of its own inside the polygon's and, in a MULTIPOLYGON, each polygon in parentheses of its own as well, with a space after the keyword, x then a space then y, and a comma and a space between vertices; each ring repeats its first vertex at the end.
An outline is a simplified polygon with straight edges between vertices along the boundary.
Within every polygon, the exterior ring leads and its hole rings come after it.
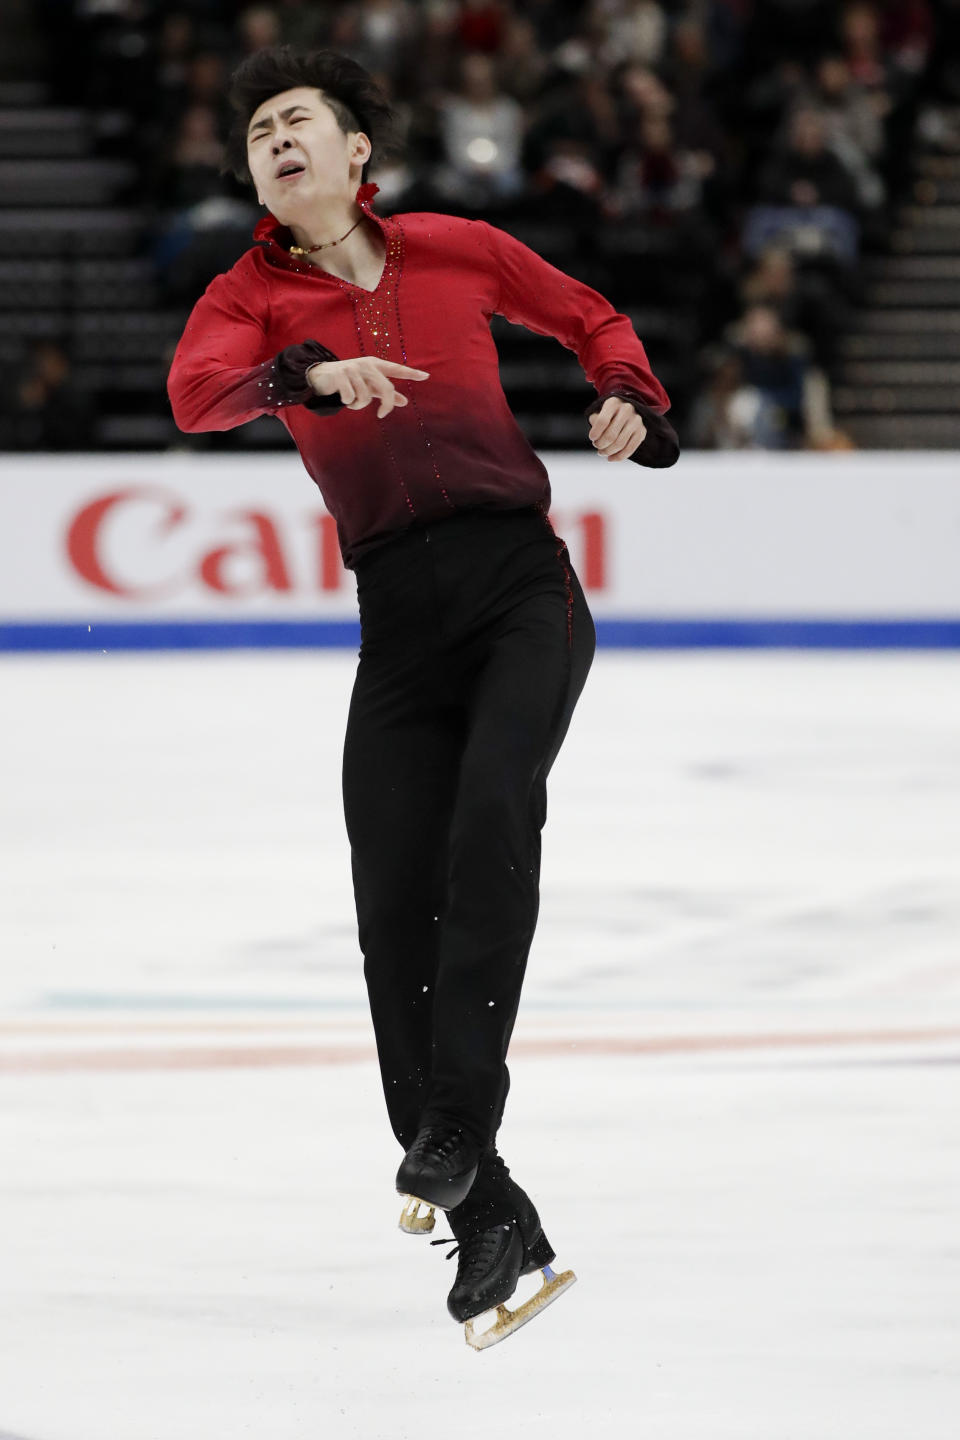
MULTIPOLYGON (((960 647, 956 454, 541 459, 600 645, 960 647)), ((360 644, 295 454, 4 456, 0 547, 0 649, 360 644)))

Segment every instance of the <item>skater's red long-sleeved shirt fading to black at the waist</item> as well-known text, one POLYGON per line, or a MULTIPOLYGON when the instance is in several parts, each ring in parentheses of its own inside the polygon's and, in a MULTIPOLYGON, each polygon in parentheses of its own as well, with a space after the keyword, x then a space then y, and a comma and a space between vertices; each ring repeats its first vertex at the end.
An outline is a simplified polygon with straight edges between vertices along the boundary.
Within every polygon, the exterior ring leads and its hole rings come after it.
MULTIPOLYGON (((387 245, 374 291, 292 256, 289 230, 268 215, 253 230, 265 243, 193 307, 167 380, 181 431, 281 419, 337 521, 347 567, 416 520, 478 505, 550 510, 547 471, 499 383, 494 314, 573 350, 599 392, 590 410, 622 395, 649 428, 669 408, 630 321, 597 291, 485 220, 427 212, 383 219, 371 206, 377 189, 357 190, 387 245), (350 410, 307 384, 317 360, 360 354, 430 379, 394 380, 409 403, 383 420, 376 400, 350 410)), ((676 458, 643 459, 646 445, 632 456, 640 464, 676 458)))

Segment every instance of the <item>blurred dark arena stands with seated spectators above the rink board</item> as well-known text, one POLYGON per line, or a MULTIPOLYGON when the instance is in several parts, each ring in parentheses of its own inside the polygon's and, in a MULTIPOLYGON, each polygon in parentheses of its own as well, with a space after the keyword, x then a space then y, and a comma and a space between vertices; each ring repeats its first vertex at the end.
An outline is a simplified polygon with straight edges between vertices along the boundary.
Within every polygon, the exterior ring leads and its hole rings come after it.
MULTIPOLYGON (((380 213, 479 215, 628 314, 687 446, 960 446, 960 0, 7 0, 0 448, 184 436, 164 380, 252 243, 232 68, 330 46, 391 99, 380 213)), ((573 354, 499 317, 531 444, 580 446, 573 354)))

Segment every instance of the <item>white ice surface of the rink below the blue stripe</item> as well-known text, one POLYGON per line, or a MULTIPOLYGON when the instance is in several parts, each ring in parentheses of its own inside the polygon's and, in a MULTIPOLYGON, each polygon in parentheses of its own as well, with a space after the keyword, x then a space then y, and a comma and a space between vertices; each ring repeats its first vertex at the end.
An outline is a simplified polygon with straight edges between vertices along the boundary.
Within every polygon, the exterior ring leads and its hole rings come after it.
POLYGON ((354 668, 0 661, 0 1437, 956 1440, 960 657, 599 652, 501 1130, 579 1283, 479 1355, 396 1224, 354 668))

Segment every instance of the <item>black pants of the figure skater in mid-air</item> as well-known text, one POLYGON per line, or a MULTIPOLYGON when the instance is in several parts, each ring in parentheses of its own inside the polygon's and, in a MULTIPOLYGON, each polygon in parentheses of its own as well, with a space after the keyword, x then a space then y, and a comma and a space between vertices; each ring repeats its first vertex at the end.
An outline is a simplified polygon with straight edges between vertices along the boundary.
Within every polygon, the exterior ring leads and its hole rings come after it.
POLYGON ((540 909, 547 775, 596 649, 537 508, 466 510, 357 563, 344 812, 393 1132, 499 1129, 540 909))

